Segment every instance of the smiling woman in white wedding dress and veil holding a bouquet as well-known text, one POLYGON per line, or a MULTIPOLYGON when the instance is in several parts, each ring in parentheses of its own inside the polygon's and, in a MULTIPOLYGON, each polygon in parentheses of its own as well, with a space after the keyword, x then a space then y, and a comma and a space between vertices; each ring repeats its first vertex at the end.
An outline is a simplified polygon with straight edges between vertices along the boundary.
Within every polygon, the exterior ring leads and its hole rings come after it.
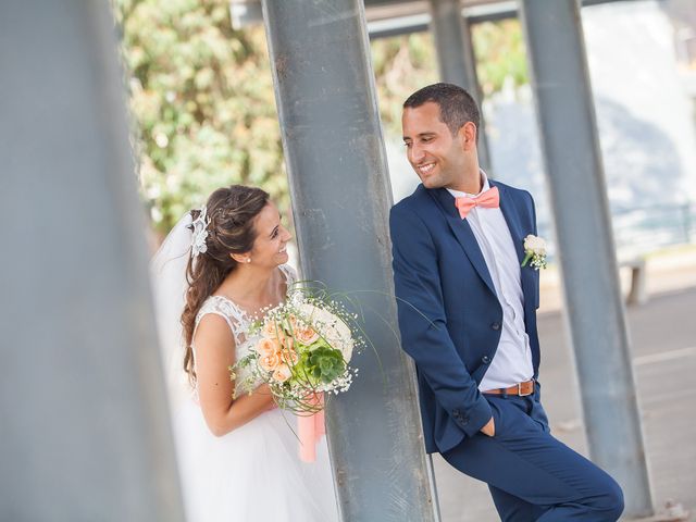
POLYGON ((297 419, 274 407, 265 385, 236 396, 229 378, 228 366, 257 340, 252 318, 282 302, 296 279, 289 239, 265 191, 233 185, 187 213, 152 260, 170 381, 184 375, 192 389, 183 399, 171 393, 191 522, 338 520, 325 440, 314 462, 301 462, 297 419))

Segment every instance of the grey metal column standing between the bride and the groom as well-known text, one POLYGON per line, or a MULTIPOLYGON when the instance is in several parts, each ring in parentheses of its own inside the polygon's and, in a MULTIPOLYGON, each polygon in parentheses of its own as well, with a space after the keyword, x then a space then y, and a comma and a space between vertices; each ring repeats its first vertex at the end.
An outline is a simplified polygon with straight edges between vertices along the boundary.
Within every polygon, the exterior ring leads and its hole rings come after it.
POLYGON ((327 412, 343 520, 433 521, 413 372, 393 330, 390 190, 362 0, 263 9, 303 275, 356 291, 381 360, 357 356, 359 377, 327 412))

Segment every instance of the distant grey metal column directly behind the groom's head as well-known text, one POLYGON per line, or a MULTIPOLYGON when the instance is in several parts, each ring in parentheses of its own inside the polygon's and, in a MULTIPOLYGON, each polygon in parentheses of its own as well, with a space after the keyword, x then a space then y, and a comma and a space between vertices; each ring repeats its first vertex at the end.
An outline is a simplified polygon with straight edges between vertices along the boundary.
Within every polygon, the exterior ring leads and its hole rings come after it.
MULTIPOLYGON (((483 96, 476 75, 471 28, 462 18, 460 0, 430 0, 430 7, 431 30, 442 80, 463 87, 481 104, 483 96)), ((483 114, 478 129, 478 162, 483 169, 490 170, 483 114)))

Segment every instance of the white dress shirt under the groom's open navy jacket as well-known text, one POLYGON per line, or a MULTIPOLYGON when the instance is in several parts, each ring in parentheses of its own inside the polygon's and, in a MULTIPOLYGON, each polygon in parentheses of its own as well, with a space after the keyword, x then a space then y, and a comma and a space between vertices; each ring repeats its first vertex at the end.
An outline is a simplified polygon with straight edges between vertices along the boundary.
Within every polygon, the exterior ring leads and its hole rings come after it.
MULTIPOLYGON (((488 190, 488 177, 481 171, 483 189, 488 190)), ((474 197, 447 189, 456 198, 474 197)), ((481 194, 478 192, 478 194, 481 194)), ((499 208, 472 208, 465 217, 486 261, 490 278, 502 307, 502 328, 498 351, 488 366, 478 389, 507 388, 534 376, 530 337, 524 327, 524 295, 518 259, 510 229, 499 208)))

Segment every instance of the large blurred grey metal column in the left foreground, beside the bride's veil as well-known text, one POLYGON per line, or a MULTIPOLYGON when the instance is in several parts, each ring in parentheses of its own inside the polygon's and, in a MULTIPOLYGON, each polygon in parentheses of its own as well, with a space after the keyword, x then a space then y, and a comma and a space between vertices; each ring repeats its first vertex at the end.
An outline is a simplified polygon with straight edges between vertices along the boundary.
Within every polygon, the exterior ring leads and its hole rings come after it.
POLYGON ((0 3, 0 520, 184 520, 115 49, 0 3))

